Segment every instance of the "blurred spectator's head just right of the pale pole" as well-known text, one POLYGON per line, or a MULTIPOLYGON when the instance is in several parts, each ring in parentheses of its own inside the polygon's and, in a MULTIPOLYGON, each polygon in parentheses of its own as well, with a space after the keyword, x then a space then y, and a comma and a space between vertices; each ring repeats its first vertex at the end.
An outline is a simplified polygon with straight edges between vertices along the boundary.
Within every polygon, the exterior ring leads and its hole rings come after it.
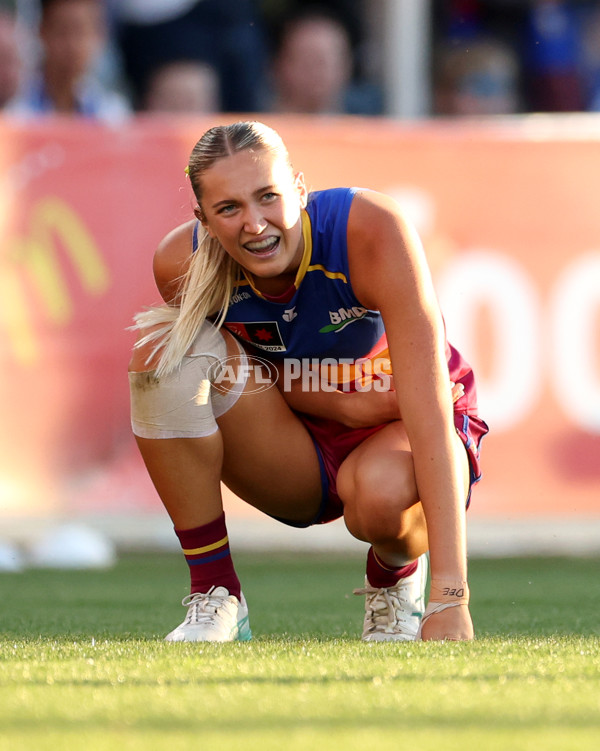
POLYGON ((435 115, 508 115, 519 111, 519 61, 495 39, 442 45, 434 56, 435 115))

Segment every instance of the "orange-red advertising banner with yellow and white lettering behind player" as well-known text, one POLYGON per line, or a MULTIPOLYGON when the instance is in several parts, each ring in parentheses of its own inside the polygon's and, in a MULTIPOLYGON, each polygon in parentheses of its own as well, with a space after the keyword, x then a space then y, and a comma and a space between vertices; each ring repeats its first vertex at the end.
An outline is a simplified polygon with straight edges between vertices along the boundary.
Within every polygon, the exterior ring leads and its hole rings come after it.
MULTIPOLYGON (((491 429, 472 513, 600 514, 600 119, 263 119, 311 188, 390 193, 416 224, 491 429)), ((0 517, 160 508, 127 327, 220 121, 0 123, 0 517)))

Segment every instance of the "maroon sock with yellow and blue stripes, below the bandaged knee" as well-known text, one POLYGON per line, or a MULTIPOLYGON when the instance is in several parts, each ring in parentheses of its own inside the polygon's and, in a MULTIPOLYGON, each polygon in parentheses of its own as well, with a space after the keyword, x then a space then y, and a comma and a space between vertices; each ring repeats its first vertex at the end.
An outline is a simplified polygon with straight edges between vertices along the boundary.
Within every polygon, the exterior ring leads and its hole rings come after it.
POLYGON ((175 534, 190 567, 190 594, 225 587, 239 600, 241 585, 229 552, 225 514, 201 527, 176 529, 175 534))

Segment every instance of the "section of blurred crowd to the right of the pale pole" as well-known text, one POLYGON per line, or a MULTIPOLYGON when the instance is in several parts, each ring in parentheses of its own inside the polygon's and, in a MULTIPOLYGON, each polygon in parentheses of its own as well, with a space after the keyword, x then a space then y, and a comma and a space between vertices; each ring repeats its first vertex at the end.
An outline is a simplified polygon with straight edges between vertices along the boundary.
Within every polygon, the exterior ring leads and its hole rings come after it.
POLYGON ((440 114, 600 110, 598 0, 434 0, 440 114))

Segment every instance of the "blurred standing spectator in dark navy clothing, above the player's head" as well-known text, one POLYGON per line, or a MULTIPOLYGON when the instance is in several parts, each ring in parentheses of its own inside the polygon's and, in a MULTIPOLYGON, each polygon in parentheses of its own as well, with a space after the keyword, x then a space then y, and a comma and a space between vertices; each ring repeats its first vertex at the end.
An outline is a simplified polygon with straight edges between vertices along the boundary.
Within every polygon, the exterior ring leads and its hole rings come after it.
POLYGON ((263 108, 266 40, 259 0, 115 0, 112 12, 136 107, 144 107, 157 68, 196 60, 218 72, 223 110, 263 108))

